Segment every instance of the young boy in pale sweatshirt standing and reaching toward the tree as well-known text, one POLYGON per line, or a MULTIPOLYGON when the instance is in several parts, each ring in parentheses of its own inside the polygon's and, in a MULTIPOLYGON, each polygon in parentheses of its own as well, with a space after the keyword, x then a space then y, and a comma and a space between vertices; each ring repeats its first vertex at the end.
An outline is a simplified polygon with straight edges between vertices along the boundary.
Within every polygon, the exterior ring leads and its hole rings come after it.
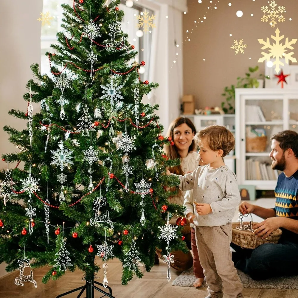
POLYGON ((200 148, 201 162, 207 165, 178 176, 181 190, 193 189, 193 197, 185 199, 184 206, 187 219, 195 225, 199 259, 208 285, 207 297, 222 298, 224 294, 226 298, 243 298, 230 251, 231 221, 240 203, 240 193, 235 174, 223 161, 234 148, 235 139, 219 125, 199 131, 194 139, 200 148))

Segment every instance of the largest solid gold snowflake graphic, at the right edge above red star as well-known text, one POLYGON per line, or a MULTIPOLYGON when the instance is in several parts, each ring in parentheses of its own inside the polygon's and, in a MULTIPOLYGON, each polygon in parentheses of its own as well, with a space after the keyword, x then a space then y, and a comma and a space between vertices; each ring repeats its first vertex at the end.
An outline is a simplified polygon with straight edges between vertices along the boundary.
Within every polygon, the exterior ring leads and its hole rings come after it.
POLYGON ((266 41, 263 39, 258 39, 260 44, 263 44, 264 46, 261 48, 267 49, 268 48, 268 53, 261 52, 263 55, 262 58, 258 60, 258 62, 264 62, 265 60, 270 61, 271 58, 275 58, 273 65, 275 65, 275 71, 276 73, 280 72, 280 66, 284 66, 284 63, 280 59, 285 59, 285 63, 289 63, 289 60, 292 62, 297 62, 296 58, 292 57, 294 52, 289 52, 286 53, 288 50, 287 49, 294 49, 292 44, 295 44, 297 39, 293 38, 291 41, 289 41, 289 38, 287 37, 285 39, 285 44, 280 41, 284 38, 284 35, 280 36, 280 30, 278 28, 275 30, 275 36, 271 35, 271 38, 275 41, 273 42, 272 45, 270 44, 270 40, 267 37, 266 41))

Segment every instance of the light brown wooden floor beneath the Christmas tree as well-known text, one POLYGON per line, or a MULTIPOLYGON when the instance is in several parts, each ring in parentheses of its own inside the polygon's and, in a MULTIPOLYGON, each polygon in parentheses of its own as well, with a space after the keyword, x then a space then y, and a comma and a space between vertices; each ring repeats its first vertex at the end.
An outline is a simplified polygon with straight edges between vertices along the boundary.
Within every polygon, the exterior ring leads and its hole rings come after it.
MULTIPOLYGON (((98 260, 101 264, 100 260, 98 260)), ((26 268, 28 269, 28 268, 26 268)), ((24 283, 24 287, 17 286, 14 283, 15 277, 18 276, 19 271, 8 274, 0 279, 0 297, 1 298, 55 298, 61 293, 77 288, 85 283, 82 281, 82 273, 75 271, 71 273, 66 272, 65 276, 57 281, 50 280, 46 285, 41 283, 43 274, 46 268, 36 269, 33 271, 33 277, 37 282, 37 289, 32 283, 24 283)), ((102 271, 100 271, 100 278, 98 282, 102 282, 102 271)), ((118 260, 114 259, 108 262, 108 281, 109 286, 113 290, 113 295, 116 298, 204 298, 207 296, 207 288, 193 288, 193 287, 174 287, 171 285, 177 276, 175 270, 171 270, 172 280, 167 282, 167 265, 160 263, 152 268, 151 272, 145 272, 142 279, 134 277, 134 279, 127 285, 121 285, 122 266, 118 260)), ((25 272, 27 273, 27 271, 25 272)), ((70 294, 66 298, 75 298, 77 294, 70 294)), ((298 290, 275 290, 275 289, 243 289, 245 298, 297 298, 298 290)), ((82 297, 86 297, 83 295, 82 297)), ((95 297, 101 297, 100 294, 95 297)))

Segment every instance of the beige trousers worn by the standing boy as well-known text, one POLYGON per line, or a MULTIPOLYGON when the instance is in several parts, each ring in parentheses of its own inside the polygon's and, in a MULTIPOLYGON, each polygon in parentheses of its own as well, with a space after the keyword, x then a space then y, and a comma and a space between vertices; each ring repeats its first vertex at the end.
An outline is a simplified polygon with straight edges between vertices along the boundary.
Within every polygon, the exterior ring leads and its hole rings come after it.
POLYGON ((211 298, 243 298, 242 284, 232 261, 231 240, 231 223, 195 226, 195 241, 211 298))

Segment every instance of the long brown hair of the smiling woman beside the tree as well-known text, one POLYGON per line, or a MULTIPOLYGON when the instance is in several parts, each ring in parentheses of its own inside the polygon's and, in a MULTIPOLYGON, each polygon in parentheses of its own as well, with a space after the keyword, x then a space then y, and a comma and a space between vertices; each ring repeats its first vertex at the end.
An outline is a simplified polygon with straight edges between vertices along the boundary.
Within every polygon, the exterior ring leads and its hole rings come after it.
MULTIPOLYGON (((170 124, 169 129, 167 131, 167 137, 170 136, 174 140, 174 128, 176 128, 177 126, 179 126, 183 123, 185 123, 191 129, 191 131, 193 133, 196 133, 195 125, 193 125, 193 122, 191 122, 190 119, 184 118, 184 117, 178 117, 170 124)), ((196 145, 195 145, 195 142, 193 141, 188 148, 188 152, 195 150, 195 148, 196 148, 196 145)), ((178 150, 175 145, 164 146, 164 151, 165 151, 167 157, 170 159, 180 158, 180 155, 179 155, 178 150)), ((181 165, 172 167, 169 169, 169 171, 171 173, 175 173, 177 175, 184 175, 184 173, 181 169, 181 165)))

